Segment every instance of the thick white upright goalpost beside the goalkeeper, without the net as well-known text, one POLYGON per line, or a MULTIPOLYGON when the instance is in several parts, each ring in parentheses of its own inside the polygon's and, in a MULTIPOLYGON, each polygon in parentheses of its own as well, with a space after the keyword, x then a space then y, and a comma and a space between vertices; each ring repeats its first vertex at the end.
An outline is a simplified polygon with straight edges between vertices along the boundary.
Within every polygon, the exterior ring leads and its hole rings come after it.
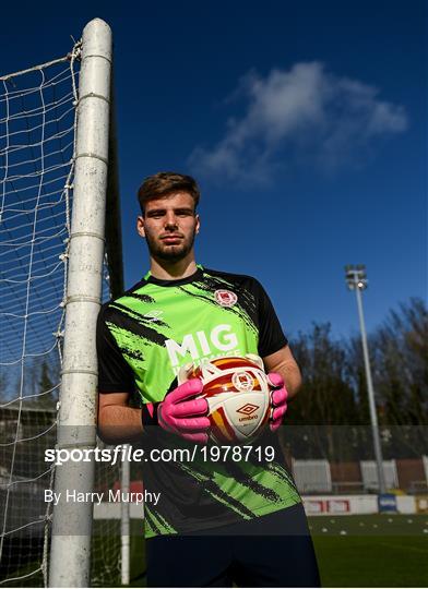
MULTIPOLYGON (((82 39, 58 449, 96 445, 95 326, 102 296, 110 73, 111 32, 95 20, 82 39)), ((93 462, 69 461, 57 468, 50 587, 90 585, 93 504, 69 502, 68 492, 88 496, 93 489, 93 462)))

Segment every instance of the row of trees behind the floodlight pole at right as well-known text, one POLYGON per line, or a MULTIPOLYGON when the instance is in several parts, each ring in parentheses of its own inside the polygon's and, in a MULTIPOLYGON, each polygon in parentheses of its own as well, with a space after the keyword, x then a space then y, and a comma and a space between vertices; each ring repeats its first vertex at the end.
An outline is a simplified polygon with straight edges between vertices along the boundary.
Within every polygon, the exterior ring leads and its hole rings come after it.
MULTIPOLYGON (((368 337, 384 457, 428 454, 428 312, 412 298, 368 337)), ((293 351, 304 384, 289 402, 294 453, 329 459, 372 458, 360 335, 335 340, 329 323, 299 333, 293 351)))

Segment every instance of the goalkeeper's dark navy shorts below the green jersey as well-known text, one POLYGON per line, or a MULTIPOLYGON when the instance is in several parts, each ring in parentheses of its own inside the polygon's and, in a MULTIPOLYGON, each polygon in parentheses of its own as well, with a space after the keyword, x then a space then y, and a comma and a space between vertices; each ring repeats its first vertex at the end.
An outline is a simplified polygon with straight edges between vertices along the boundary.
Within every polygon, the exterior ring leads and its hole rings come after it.
POLYGON ((301 504, 146 546, 148 587, 320 587, 301 504))

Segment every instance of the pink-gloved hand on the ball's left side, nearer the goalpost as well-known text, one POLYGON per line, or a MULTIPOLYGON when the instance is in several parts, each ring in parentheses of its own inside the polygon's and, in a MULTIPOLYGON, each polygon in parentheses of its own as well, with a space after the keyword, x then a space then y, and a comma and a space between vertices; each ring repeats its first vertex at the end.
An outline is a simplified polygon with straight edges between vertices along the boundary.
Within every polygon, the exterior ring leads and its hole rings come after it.
POLYGON ((206 444, 210 420, 206 417, 206 399, 189 399, 202 393, 200 378, 191 378, 168 393, 157 406, 157 419, 160 428, 198 444, 206 444))

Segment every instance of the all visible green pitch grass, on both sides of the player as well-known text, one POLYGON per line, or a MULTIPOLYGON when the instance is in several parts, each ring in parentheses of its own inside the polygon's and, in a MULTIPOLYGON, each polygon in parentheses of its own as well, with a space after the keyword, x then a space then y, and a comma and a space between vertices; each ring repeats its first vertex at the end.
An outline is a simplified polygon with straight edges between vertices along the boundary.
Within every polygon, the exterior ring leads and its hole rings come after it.
MULTIPOLYGON (((323 587, 427 587, 428 514, 317 516, 309 518, 323 587), (427 531, 424 531, 427 530, 427 531)), ((117 566, 106 568, 118 551, 118 524, 95 522, 93 577, 95 585, 120 586, 117 566)), ((145 550, 141 522, 131 527, 130 587, 145 587, 145 550)), ((17 574, 39 566, 27 563, 17 574)), ((36 586, 40 574, 7 586, 36 586)))

